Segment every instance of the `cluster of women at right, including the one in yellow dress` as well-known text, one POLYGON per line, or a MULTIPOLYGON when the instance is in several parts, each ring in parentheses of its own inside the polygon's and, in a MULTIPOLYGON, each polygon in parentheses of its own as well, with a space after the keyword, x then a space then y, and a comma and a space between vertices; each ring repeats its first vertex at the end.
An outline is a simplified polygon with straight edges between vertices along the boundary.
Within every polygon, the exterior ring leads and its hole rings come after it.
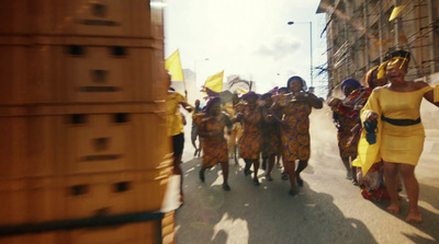
POLYGON ((420 222, 415 166, 425 132, 419 111, 423 97, 439 106, 439 86, 405 80, 409 60, 408 51, 386 54, 384 62, 367 73, 368 88, 356 80, 345 80, 345 100, 329 105, 339 128, 340 156, 348 177, 354 183, 358 179, 362 196, 370 200, 390 198, 387 210, 398 213, 401 176, 409 201, 406 221, 420 222))

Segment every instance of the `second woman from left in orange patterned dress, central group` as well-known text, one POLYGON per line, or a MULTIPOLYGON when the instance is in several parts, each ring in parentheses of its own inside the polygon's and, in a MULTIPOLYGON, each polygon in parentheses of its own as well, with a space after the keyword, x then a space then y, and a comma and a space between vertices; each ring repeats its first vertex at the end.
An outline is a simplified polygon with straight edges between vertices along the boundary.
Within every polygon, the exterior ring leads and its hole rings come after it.
POLYGON ((239 156, 246 162, 244 174, 251 174, 250 167, 254 164, 254 185, 259 186, 258 170, 259 170, 259 153, 261 152, 261 120, 262 113, 258 106, 258 95, 255 92, 248 92, 243 95, 245 103, 237 104, 236 117, 234 121, 243 121, 243 136, 239 140, 239 156))

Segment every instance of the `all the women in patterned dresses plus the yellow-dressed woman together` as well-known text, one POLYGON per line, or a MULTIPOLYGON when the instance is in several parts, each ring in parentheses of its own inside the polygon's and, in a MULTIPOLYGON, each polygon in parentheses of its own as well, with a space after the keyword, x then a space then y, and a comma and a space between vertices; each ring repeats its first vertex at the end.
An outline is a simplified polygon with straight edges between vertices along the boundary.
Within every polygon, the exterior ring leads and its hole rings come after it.
MULTIPOLYGON (((419 189, 414 174, 425 139, 419 108, 423 97, 439 106, 439 86, 434 89, 423 81, 405 80, 410 60, 407 51, 390 53, 384 60, 367 73, 367 88, 357 80, 345 80, 341 89, 346 97, 329 103, 335 112, 340 156, 347 177, 360 184, 363 197, 370 200, 390 197, 387 210, 391 212, 399 212, 397 182, 401 175, 409 200, 406 220, 419 222, 419 189)), ((266 178, 272 181, 274 158, 281 154, 291 185, 289 194, 299 193, 297 185, 303 186, 300 174, 311 154, 309 114, 312 108, 322 108, 323 101, 306 91, 306 83, 300 77, 290 78, 286 89, 286 93, 262 96, 246 93, 243 101, 235 104, 233 117, 221 112, 219 98, 210 100, 204 113, 193 116, 204 150, 201 181, 204 182, 206 169, 221 163, 223 188, 230 189, 224 128, 239 123, 243 126, 239 155, 245 161, 244 174, 252 173, 254 185, 260 184, 259 158, 263 153, 269 162, 266 178)))

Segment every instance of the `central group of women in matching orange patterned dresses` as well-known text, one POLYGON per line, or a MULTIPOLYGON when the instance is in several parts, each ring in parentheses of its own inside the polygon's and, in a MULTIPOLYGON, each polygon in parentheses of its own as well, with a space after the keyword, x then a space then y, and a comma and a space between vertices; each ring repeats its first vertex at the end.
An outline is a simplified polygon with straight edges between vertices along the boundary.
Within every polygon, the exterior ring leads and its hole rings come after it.
POLYGON ((266 93, 261 97, 255 92, 246 93, 243 101, 234 106, 236 115, 230 119, 218 112, 219 98, 210 100, 204 108, 205 113, 193 116, 204 150, 201 181, 204 181, 205 169, 221 162, 223 188, 230 189, 227 184, 227 142, 223 131, 225 127, 230 128, 230 125, 240 123, 243 132, 239 139, 239 156, 246 163, 244 174, 247 176, 252 173, 252 183, 259 186, 259 158, 263 152, 269 160, 266 178, 272 181, 274 158, 282 154, 291 184, 289 194, 294 196, 299 193, 296 185, 303 186, 300 173, 307 166, 311 154, 308 116, 313 107, 323 107, 323 101, 306 92, 306 83, 300 77, 290 78, 286 88, 289 93, 266 93), (254 171, 250 170, 251 165, 254 171))

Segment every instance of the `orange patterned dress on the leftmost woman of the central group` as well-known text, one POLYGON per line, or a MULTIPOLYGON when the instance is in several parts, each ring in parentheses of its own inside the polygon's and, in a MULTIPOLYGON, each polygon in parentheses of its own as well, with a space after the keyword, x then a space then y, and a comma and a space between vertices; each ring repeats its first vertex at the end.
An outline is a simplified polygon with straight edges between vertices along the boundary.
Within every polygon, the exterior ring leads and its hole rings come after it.
MULTIPOLYGON (((224 132, 226 119, 224 116, 206 117, 204 113, 194 114, 193 121, 199 131, 224 132)), ((201 140, 203 149, 203 167, 212 167, 219 162, 228 162, 227 141, 224 137, 203 137, 201 140)))

